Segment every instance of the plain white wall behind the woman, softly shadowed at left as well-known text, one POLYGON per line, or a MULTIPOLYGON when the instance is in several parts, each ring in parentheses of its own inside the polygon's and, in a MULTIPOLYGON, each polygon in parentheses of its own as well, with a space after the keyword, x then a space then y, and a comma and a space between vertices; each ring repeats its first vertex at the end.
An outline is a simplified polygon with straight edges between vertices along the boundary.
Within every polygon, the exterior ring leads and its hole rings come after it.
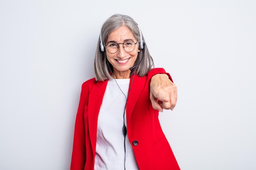
POLYGON ((0 169, 68 170, 101 24, 140 25, 178 87, 159 118, 182 170, 256 169, 256 2, 0 1, 0 169))

